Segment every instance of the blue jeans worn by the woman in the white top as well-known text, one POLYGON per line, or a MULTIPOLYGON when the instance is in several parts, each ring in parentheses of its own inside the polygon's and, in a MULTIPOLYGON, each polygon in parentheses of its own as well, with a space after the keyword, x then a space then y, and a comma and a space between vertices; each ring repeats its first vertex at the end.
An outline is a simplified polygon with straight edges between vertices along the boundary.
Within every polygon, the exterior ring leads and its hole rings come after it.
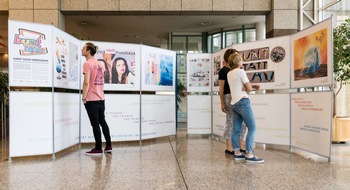
POLYGON ((232 145, 235 151, 240 149, 239 147, 239 133, 241 131, 242 122, 247 125, 248 134, 246 138, 246 151, 247 153, 253 153, 254 135, 255 135, 255 119, 253 110, 250 107, 249 98, 242 98, 234 105, 231 105, 232 119, 233 119, 233 133, 232 133, 232 145))

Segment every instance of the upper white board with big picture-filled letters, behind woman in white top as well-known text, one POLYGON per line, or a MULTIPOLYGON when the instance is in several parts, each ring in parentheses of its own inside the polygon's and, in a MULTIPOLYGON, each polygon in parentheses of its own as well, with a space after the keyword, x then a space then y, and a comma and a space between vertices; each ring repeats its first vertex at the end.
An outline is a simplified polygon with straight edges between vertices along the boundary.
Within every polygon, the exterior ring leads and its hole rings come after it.
POLYGON ((290 88, 290 36, 235 44, 243 59, 243 69, 260 89, 290 88))

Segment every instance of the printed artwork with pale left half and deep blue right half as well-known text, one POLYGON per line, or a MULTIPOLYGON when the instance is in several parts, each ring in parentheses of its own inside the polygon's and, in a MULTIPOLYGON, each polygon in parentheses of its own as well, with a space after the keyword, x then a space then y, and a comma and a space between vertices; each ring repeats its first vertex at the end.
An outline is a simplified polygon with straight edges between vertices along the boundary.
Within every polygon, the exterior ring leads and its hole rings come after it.
POLYGON ((149 53, 146 58, 145 84, 158 86, 173 85, 173 57, 149 53))

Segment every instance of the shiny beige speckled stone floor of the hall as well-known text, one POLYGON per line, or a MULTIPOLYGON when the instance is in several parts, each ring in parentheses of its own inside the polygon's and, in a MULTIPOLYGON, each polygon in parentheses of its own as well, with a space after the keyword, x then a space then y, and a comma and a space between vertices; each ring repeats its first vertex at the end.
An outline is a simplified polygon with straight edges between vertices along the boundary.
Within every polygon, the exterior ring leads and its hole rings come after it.
POLYGON ((333 144, 332 162, 286 147, 257 146, 264 164, 235 162, 224 143, 186 135, 114 143, 112 154, 85 156, 82 144, 51 156, 13 158, 0 149, 0 189, 350 189, 350 145, 333 144))

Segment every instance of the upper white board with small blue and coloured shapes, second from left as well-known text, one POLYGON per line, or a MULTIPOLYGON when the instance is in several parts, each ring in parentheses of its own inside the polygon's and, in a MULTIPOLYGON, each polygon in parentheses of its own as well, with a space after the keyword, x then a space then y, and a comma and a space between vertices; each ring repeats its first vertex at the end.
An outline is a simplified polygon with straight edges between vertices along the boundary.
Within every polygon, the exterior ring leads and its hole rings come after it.
POLYGON ((80 40, 53 27, 54 87, 80 89, 80 40))

